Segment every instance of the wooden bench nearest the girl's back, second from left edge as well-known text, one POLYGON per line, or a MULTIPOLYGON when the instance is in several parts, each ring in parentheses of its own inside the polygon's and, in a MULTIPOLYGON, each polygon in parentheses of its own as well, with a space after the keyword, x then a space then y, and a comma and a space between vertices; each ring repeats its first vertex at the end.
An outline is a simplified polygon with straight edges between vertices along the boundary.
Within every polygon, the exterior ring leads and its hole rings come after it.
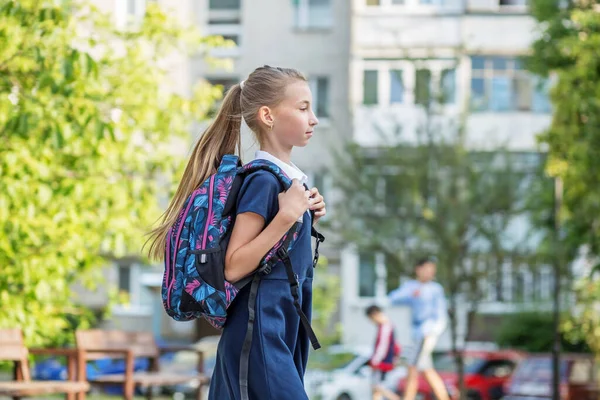
POLYGON ((133 399, 136 387, 145 389, 146 398, 152 398, 153 387, 164 387, 197 380, 197 399, 202 396, 202 388, 208 382, 204 375, 202 351, 190 347, 169 347, 160 349, 149 332, 125 332, 110 330, 78 330, 75 332, 77 349, 85 362, 101 358, 125 359, 123 374, 100 375, 90 380, 92 385, 123 385, 124 398, 133 399), (198 354, 197 371, 192 373, 161 372, 159 357, 173 351, 193 351, 198 354), (134 372, 135 358, 150 361, 148 371, 134 372))

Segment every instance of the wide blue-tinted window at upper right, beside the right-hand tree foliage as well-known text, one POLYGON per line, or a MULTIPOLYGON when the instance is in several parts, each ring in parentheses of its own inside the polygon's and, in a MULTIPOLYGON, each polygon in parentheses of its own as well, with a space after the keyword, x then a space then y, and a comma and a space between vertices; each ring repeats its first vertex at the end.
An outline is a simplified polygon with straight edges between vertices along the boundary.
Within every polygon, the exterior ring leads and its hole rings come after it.
POLYGON ((548 84, 511 57, 471 57, 471 107, 475 111, 547 113, 548 84))

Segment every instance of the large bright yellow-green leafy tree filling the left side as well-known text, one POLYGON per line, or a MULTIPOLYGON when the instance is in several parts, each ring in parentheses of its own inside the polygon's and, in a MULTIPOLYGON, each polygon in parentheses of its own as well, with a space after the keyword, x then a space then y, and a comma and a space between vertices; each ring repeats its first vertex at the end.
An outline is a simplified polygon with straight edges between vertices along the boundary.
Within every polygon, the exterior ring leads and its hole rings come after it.
POLYGON ((215 44, 154 3, 118 30, 82 1, 2 2, 0 326, 30 345, 70 339, 88 315, 71 286, 93 289, 106 257, 141 254, 161 182, 181 171, 174 149, 219 97, 170 90, 165 60, 215 44))

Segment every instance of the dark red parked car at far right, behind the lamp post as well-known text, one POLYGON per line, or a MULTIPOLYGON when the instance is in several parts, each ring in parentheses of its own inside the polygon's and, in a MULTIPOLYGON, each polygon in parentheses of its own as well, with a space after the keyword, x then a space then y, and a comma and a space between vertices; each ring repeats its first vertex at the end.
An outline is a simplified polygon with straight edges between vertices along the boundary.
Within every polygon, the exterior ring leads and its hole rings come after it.
MULTIPOLYGON (((594 358, 587 354, 562 354, 561 400, 597 400, 600 394, 594 358)), ((523 360, 506 383, 503 400, 552 398, 552 355, 535 354, 523 360)))

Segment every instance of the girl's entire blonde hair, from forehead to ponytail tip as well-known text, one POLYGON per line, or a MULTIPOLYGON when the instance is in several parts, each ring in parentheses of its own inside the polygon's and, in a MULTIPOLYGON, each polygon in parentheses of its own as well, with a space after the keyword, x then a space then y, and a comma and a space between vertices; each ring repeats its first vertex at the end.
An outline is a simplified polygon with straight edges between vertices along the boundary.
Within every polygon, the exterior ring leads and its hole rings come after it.
POLYGON ((148 233, 150 237, 146 244, 150 242, 148 255, 151 259, 160 260, 164 256, 169 229, 190 194, 217 171, 224 155, 241 155, 242 117, 262 144, 264 127, 258 119, 258 111, 263 106, 275 107, 281 103, 286 87, 296 81, 306 81, 306 78, 292 68, 265 65, 255 69, 243 82, 243 87, 236 84, 229 89, 215 120, 196 143, 175 196, 160 217, 159 225, 148 233))

